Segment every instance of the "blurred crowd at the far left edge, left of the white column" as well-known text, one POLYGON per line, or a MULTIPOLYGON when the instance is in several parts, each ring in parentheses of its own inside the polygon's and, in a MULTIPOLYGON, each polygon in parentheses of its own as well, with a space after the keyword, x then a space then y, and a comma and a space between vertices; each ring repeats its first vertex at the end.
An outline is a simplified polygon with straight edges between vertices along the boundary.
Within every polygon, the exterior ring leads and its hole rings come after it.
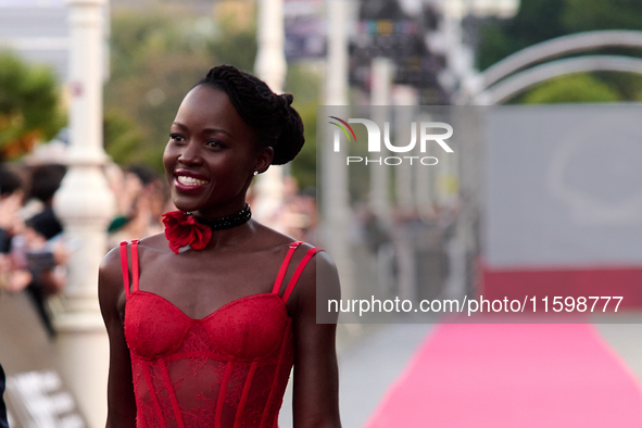
POLYGON ((0 165, 0 289, 25 290, 52 336, 46 299, 63 289, 70 255, 52 207, 65 172, 59 164, 0 165))

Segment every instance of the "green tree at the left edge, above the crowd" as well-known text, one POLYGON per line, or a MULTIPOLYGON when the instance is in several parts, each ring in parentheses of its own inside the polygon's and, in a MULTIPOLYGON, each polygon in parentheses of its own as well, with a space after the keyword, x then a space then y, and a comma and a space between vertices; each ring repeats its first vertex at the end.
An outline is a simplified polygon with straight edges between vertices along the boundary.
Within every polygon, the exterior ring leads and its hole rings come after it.
POLYGON ((28 152, 53 138, 64 125, 60 88, 53 72, 14 53, 0 53, 0 160, 28 152))

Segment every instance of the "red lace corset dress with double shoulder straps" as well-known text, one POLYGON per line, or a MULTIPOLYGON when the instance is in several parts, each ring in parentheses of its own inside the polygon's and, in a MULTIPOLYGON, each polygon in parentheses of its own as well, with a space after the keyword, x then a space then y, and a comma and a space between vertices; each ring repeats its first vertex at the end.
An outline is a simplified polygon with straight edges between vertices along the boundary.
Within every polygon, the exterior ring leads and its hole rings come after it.
POLYGON ((193 319, 164 298, 138 289, 138 242, 121 244, 125 337, 131 355, 137 427, 276 427, 293 362, 292 319, 279 290, 301 242, 290 246, 272 293, 235 300, 193 319))

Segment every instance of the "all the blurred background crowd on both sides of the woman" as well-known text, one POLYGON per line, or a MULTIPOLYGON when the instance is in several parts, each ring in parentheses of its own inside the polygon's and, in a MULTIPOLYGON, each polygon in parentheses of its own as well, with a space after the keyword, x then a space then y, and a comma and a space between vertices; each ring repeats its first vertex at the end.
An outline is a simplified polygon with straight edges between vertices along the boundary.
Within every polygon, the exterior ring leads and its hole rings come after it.
MULTIPOLYGON (((26 292, 50 337, 55 330, 49 298, 63 291, 67 262, 80 247, 65 239, 53 209, 65 173, 66 167, 55 163, 0 164, 0 292, 26 292)), ((106 228, 105 252, 123 240, 162 232, 162 214, 176 210, 164 177, 144 165, 121 167, 111 163, 104 173, 116 198, 116 214, 106 228)), ((286 234, 315 243, 314 190, 301 192, 297 181, 288 177, 277 215, 286 234)))

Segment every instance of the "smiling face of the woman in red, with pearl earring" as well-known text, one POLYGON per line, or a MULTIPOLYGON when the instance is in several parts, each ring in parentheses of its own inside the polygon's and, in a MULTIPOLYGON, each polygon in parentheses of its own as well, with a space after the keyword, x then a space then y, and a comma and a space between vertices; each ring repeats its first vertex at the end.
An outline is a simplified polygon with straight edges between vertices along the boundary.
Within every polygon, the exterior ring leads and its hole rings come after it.
POLYGON ((203 85, 182 100, 163 155, 176 207, 205 217, 241 210, 252 173, 270 161, 272 149, 256 150, 254 130, 227 95, 203 85))

